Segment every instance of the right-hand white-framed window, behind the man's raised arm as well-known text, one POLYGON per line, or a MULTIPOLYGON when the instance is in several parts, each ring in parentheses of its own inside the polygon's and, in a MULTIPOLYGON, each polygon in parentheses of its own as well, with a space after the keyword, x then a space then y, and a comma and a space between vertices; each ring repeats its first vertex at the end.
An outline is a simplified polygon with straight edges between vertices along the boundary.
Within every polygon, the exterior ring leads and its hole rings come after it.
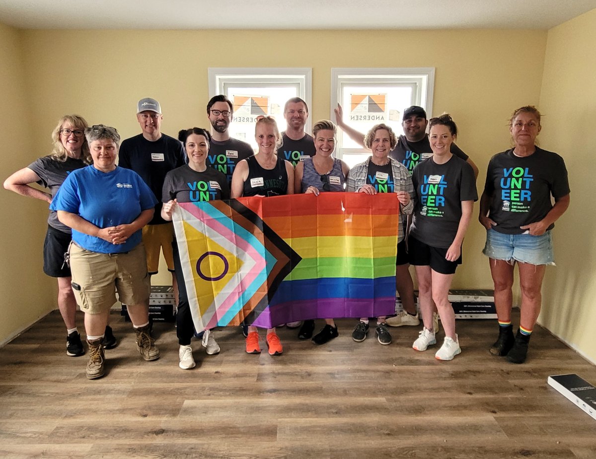
MULTIPOLYGON (((339 102, 343 119, 350 127, 365 134, 374 124, 391 126, 403 134, 402 113, 411 105, 420 105, 432 113, 434 68, 332 68, 331 119, 339 102)), ((368 156, 366 149, 338 132, 336 155, 352 167, 368 156)))

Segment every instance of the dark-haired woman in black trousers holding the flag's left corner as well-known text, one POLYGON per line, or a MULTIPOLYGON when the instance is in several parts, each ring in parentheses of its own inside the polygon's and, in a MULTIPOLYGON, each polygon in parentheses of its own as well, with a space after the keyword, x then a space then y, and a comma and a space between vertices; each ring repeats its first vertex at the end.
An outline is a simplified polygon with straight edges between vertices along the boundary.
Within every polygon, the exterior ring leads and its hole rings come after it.
MULTIPOLYGON (((163 182, 162 218, 172 221, 172 213, 179 202, 204 202, 215 199, 229 199, 228 180, 226 176, 207 167, 207 153, 209 152, 209 132, 200 127, 181 130, 178 140, 184 144, 188 157, 188 164, 169 171, 163 182)), ((184 273, 180 262, 178 242, 172 242, 175 273, 178 279, 178 312, 176 313, 176 335, 180 349, 178 366, 183 370, 194 368, 193 348, 190 346, 194 335, 193 316, 188 303, 188 294, 184 282, 184 273)), ((218 354, 219 345, 210 330, 205 330, 203 347, 207 354, 218 354)))

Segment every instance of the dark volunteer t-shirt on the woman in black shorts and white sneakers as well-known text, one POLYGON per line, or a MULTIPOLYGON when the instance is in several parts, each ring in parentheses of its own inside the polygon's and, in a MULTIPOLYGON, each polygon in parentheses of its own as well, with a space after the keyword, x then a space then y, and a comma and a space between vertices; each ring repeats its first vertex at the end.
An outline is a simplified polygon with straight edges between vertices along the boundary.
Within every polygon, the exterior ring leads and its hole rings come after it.
POLYGON ((449 248, 461 219, 461 201, 477 201, 476 179, 470 164, 453 155, 445 164, 433 158, 412 174, 416 201, 410 234, 432 247, 449 248))

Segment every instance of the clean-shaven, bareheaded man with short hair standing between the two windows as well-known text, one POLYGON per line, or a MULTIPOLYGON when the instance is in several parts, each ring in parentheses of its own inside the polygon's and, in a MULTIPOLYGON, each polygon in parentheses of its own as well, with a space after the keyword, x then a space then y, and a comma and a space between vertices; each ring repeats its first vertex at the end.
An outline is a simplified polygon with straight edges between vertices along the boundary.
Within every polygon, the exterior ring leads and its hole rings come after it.
POLYGON ((299 97, 289 99, 284 105, 284 118, 287 126, 281 133, 283 143, 277 154, 296 167, 305 157, 316 153, 315 140, 304 130, 308 120, 306 102, 299 97))

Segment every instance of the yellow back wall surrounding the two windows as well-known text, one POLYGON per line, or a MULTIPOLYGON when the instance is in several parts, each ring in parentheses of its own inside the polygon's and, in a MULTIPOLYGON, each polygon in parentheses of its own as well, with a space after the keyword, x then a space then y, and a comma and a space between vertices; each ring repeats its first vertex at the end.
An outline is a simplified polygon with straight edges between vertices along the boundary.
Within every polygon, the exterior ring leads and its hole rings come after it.
MULTIPOLYGON (((33 156, 46 151, 48 133, 64 113, 115 126, 123 138, 135 135, 135 104, 147 96, 162 104, 163 132, 207 126, 208 67, 312 67, 313 120, 330 117, 331 67, 435 67, 434 113, 454 115, 458 144, 480 168, 480 191, 489 158, 510 145, 509 114, 539 102, 547 42, 539 30, 26 30, 22 36, 29 99, 18 107, 29 110, 35 126, 33 156)), ((32 202, 26 206, 45 213, 32 202)), ((30 235, 32 244, 41 245, 39 238, 30 235)), ((484 239, 474 218, 454 287, 492 287, 480 254, 484 239)), ((27 266, 28 274, 41 272, 33 262, 27 266)), ((154 283, 168 279, 159 274, 154 283)))

